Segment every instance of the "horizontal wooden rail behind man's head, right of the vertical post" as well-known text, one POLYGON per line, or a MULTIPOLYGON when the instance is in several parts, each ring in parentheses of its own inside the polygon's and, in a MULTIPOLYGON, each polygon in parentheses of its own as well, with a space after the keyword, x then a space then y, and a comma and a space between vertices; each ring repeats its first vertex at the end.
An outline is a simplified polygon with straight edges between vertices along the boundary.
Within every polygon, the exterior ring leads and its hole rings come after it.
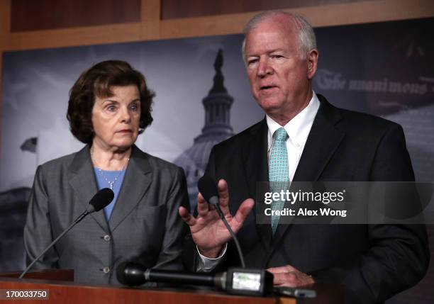
MULTIPOLYGON (((384 0, 286 9, 306 16, 313 27, 372 23, 434 16, 434 1, 384 0)), ((257 12, 161 21, 161 38, 240 33, 257 12)))

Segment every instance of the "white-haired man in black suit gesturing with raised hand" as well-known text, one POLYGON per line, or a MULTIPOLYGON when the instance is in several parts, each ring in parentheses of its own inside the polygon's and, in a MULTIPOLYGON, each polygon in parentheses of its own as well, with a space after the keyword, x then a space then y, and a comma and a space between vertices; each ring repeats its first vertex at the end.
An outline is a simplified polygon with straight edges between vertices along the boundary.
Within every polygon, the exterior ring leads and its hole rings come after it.
MULTIPOLYGON (((258 207, 251 199, 257 181, 413 181, 414 175, 401 126, 335 108, 312 91, 318 50, 304 18, 255 16, 245 27, 243 56, 266 118, 213 147, 206 174, 219 180, 220 205, 247 266, 267 268, 277 286, 342 283, 347 303, 382 302, 416 284, 429 263, 423 225, 257 224, 250 213, 258 207), (276 151, 284 169, 274 167, 276 151)), ((200 194, 197 218, 184 208, 179 213, 197 244, 190 264, 239 265, 226 228, 200 194)))

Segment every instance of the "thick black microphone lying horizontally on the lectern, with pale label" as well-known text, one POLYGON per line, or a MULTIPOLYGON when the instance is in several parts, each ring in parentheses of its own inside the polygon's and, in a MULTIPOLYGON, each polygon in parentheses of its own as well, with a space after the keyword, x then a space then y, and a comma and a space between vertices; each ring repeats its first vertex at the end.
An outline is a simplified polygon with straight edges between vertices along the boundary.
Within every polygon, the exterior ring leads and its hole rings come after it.
POLYGON ((266 295, 272 292, 273 275, 265 270, 230 268, 218 274, 147 269, 145 265, 124 261, 116 269, 118 281, 126 286, 146 282, 214 286, 234 295, 266 295))

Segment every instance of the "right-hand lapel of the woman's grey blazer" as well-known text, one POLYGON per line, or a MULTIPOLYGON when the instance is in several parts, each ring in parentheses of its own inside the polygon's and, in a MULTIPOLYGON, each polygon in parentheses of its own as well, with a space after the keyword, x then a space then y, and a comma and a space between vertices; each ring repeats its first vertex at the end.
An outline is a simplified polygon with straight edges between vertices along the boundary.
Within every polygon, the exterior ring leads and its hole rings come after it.
POLYGON ((130 214, 148 190, 152 181, 152 171, 145 153, 135 145, 131 151, 130 161, 126 169, 118 200, 111 213, 109 226, 111 232, 130 214))

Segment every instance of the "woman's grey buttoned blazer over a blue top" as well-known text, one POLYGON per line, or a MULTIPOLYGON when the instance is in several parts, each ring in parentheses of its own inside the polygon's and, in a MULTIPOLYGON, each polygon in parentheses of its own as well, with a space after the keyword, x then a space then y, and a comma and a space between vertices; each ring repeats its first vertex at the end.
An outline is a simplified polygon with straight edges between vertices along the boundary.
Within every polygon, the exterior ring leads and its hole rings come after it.
MULTIPOLYGON (((24 242, 28 263, 60 235, 98 191, 89 146, 38 167, 30 196, 24 242)), ((121 192, 109 221, 104 210, 84 218, 35 269, 74 269, 74 281, 114 283, 116 267, 140 258, 159 269, 182 269, 189 208, 184 171, 133 146, 121 192)))

